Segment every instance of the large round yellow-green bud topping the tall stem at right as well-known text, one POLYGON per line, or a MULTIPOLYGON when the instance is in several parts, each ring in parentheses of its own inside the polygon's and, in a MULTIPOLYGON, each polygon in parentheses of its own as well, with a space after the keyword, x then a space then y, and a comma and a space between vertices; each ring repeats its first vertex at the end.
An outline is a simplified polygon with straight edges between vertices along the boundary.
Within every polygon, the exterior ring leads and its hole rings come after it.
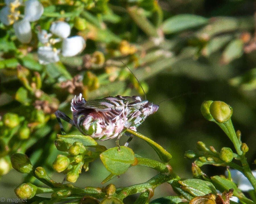
POLYGON ((218 123, 223 123, 230 119, 232 112, 232 108, 223 101, 213 101, 210 105, 210 114, 218 123))

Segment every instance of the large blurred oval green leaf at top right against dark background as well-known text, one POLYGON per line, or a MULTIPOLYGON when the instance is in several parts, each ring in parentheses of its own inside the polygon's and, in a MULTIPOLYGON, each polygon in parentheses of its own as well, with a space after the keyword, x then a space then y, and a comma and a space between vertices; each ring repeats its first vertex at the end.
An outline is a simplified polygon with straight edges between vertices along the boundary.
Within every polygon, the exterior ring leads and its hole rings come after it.
POLYGON ((208 19, 202 16, 192 14, 179 14, 166 19, 162 25, 162 29, 164 33, 170 34, 204 25, 207 22, 208 19))

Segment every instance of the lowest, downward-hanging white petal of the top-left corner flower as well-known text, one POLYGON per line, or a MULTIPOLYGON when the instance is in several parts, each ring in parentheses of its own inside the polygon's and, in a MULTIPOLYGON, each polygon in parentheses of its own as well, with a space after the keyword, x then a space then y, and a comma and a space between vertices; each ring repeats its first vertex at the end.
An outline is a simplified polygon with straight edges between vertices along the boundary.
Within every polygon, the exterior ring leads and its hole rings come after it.
POLYGON ((16 37, 22 43, 29 43, 32 38, 31 26, 29 21, 20 20, 13 24, 16 37))

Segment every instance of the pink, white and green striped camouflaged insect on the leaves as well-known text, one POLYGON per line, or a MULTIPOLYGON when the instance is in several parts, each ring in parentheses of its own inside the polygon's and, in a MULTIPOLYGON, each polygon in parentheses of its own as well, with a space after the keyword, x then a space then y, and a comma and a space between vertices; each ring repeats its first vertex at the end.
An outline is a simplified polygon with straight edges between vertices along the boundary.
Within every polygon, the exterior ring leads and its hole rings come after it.
POLYGON ((158 105, 143 101, 139 96, 117 95, 86 102, 79 94, 71 101, 73 120, 61 111, 56 111, 55 115, 59 122, 59 118, 62 118, 95 140, 116 137, 119 140, 128 128, 136 131, 146 117, 157 110, 158 105))

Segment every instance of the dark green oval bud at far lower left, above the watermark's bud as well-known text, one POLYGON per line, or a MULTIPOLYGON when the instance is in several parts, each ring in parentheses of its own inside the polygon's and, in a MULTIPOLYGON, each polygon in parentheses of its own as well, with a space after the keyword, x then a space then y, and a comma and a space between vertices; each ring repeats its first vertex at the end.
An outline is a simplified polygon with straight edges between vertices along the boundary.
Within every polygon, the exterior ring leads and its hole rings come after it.
POLYGON ((11 156, 13 168, 21 173, 30 173, 33 166, 26 154, 15 153, 11 156))

